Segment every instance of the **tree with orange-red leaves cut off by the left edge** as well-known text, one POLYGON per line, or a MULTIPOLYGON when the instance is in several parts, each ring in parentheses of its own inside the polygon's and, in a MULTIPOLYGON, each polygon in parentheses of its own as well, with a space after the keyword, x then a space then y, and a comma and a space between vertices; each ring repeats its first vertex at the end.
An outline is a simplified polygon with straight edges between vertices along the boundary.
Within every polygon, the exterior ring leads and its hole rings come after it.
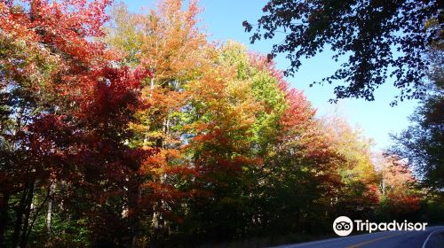
MULTIPOLYGON (((3 4, 0 7, 6 12, 3 4)), ((6 23, 4 17, 8 16, 4 12, 2 23, 6 23)), ((32 157, 24 144, 28 140, 28 125, 44 110, 38 99, 42 99, 42 102, 47 100, 47 95, 36 94, 31 88, 36 87, 39 81, 48 79, 57 63, 49 52, 38 50, 34 43, 29 42, 29 36, 19 39, 8 34, 7 27, 3 28, 6 32, 0 34, 0 245, 4 244, 6 228, 12 221, 15 222, 14 236, 19 242, 21 221, 28 212, 29 198, 32 198, 31 191, 34 191, 30 189, 38 188, 35 181, 47 176, 33 173, 34 165, 28 163, 32 157), (13 203, 13 198, 20 193, 22 198, 13 203), (12 207, 17 213, 15 220, 9 214, 12 207)))

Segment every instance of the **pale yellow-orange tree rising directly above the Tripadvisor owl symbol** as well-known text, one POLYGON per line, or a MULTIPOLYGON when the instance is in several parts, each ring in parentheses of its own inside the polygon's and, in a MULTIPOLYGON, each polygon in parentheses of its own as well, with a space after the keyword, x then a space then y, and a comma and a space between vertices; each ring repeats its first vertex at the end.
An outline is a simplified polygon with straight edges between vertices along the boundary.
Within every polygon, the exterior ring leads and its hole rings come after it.
POLYGON ((337 168, 343 183, 337 192, 337 211, 355 218, 369 217, 379 203, 377 173, 371 161, 371 140, 338 115, 321 119, 332 147, 344 159, 337 168))

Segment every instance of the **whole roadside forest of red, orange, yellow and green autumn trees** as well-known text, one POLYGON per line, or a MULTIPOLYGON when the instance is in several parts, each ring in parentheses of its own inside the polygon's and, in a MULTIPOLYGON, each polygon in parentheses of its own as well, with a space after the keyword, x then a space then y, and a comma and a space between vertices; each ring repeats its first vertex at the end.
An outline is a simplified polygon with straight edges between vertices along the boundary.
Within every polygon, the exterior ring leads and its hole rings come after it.
POLYGON ((210 42, 201 12, 0 1, 0 247, 254 247, 331 236, 340 215, 444 222, 442 71, 375 152, 269 56, 210 42))

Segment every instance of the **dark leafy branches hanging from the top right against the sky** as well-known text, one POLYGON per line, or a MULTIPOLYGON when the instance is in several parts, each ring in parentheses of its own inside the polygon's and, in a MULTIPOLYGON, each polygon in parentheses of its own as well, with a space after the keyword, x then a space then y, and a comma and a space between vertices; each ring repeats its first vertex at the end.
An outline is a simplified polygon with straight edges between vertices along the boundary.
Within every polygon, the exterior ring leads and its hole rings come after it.
MULTIPOLYGON (((348 57, 335 74, 319 82, 345 81, 335 88, 337 99, 374 100, 373 92, 385 83, 387 74, 395 77, 400 100, 424 97, 429 66, 424 52, 442 39, 440 1, 271 0, 263 12, 251 43, 283 33, 285 38, 274 44, 271 58, 288 53, 291 64, 286 74, 297 71, 301 58, 311 58, 329 45, 336 52, 334 60, 348 57)), ((243 26, 248 32, 253 29, 247 21, 243 26)))

